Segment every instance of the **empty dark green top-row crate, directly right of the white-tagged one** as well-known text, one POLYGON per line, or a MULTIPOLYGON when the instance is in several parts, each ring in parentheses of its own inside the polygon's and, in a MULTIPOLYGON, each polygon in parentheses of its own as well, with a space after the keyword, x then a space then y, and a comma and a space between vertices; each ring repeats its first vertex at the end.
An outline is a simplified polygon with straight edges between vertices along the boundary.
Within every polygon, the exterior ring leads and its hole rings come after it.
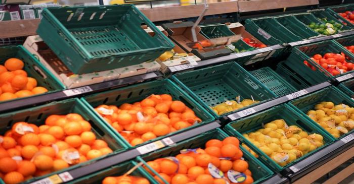
POLYGON ((281 25, 286 27, 292 33, 300 36, 302 39, 312 38, 320 34, 304 25, 301 21, 297 20, 292 15, 274 17, 281 25))

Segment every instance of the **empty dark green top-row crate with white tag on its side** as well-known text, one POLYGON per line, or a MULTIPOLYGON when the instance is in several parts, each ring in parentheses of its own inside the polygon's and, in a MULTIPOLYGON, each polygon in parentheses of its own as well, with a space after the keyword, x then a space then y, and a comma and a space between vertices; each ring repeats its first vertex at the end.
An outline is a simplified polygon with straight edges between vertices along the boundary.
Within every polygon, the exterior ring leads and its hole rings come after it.
POLYGON ((276 45, 302 40, 273 17, 247 19, 246 30, 266 45, 276 45))

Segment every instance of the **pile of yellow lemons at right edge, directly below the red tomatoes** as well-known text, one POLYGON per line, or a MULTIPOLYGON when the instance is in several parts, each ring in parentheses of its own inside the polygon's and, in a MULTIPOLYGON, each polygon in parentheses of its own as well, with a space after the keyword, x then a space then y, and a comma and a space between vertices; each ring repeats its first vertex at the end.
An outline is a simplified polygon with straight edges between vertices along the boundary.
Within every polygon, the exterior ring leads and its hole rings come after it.
POLYGON ((315 110, 309 110, 307 115, 335 138, 354 129, 354 107, 343 103, 335 105, 324 101, 316 104, 315 110))

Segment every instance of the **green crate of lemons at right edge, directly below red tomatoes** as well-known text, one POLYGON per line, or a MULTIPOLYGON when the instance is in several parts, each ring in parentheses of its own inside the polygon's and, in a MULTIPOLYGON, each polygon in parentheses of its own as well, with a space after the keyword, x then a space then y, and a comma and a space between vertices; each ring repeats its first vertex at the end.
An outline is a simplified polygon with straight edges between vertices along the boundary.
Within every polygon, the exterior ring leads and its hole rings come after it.
MULTIPOLYGON (((354 101, 346 96, 343 92, 341 92, 338 88, 331 86, 325 89, 322 89, 320 91, 317 91, 315 93, 311 93, 309 95, 306 95, 304 97, 300 97, 296 100, 292 100, 289 102, 289 104, 294 107, 298 112, 301 113, 302 116, 305 116, 309 121, 313 122, 313 124, 317 123, 309 118, 306 114, 309 110, 313 110, 315 108, 316 104, 319 104, 323 101, 331 101, 335 105, 339 103, 344 103, 350 107, 354 107, 354 101)), ((319 129, 322 131, 326 132, 329 136, 331 136, 333 139, 334 138, 330 133, 328 133, 325 129, 323 129, 321 126, 317 125, 319 129)), ((354 130, 349 131, 347 134, 343 134, 340 136, 340 138, 345 137, 345 135, 350 134, 354 130)), ((340 139, 338 138, 338 139, 340 139)))

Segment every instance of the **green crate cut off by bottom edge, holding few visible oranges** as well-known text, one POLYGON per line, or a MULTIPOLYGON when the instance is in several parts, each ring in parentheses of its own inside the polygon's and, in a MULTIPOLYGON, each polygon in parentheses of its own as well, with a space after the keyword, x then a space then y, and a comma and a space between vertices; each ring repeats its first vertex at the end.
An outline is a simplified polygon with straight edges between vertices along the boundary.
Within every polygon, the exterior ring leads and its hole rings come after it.
MULTIPOLYGON (((108 176, 121 176, 124 175, 129 169, 136 166, 138 163, 135 161, 126 161, 123 163, 119 163, 112 167, 106 168, 104 170, 95 172, 93 174, 79 177, 78 179, 72 180, 68 183, 84 183, 84 184, 91 184, 91 183, 102 183, 102 180, 108 176)), ((148 172, 143 169, 143 167, 138 167, 136 170, 131 172, 129 176, 138 176, 144 177, 150 181, 150 184, 158 184, 158 182, 150 175, 148 172)))

